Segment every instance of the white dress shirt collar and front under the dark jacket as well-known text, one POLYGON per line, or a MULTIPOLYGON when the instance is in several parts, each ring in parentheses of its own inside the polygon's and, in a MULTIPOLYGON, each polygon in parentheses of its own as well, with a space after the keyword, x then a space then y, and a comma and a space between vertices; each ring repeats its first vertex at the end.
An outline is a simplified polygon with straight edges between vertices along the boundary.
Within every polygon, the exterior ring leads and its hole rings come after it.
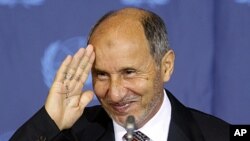
MULTIPOLYGON (((171 104, 164 90, 163 103, 159 111, 140 129, 153 141, 167 141, 169 125, 171 119, 171 104)), ((126 129, 113 120, 115 140, 122 141, 122 137, 127 133, 126 129)))

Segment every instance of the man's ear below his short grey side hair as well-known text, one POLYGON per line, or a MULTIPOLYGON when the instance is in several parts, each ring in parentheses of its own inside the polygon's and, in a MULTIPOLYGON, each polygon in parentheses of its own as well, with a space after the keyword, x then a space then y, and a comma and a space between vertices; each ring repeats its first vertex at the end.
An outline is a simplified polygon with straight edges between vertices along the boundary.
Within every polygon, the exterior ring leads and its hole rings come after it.
POLYGON ((168 82, 174 70, 175 54, 173 50, 169 50, 161 60, 161 74, 163 81, 168 82))

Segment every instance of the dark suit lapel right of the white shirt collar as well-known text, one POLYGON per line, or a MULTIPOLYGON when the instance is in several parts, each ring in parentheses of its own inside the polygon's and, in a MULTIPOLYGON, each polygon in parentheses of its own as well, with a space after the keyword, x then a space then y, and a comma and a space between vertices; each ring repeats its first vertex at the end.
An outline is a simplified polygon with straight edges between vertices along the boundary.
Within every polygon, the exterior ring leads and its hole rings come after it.
POLYGON ((172 107, 168 141, 204 141, 191 112, 169 91, 166 92, 172 107))

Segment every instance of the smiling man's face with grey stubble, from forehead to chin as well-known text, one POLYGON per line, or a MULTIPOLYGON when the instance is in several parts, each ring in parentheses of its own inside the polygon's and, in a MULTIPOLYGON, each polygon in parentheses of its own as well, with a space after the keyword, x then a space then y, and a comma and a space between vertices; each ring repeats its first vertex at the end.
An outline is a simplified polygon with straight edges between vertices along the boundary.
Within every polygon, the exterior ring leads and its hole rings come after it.
POLYGON ((96 60, 92 69, 96 96, 107 113, 124 125, 133 115, 143 126, 163 99, 160 68, 150 55, 141 27, 119 26, 92 38, 96 60))

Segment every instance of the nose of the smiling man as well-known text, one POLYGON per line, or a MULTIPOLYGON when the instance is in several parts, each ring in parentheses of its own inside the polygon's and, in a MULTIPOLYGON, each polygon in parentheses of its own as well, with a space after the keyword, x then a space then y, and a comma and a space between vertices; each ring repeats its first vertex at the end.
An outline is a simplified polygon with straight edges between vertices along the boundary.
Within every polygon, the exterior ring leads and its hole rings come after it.
POLYGON ((113 77, 110 82, 108 96, 112 102, 120 102, 127 94, 127 89, 122 85, 119 77, 113 77))

